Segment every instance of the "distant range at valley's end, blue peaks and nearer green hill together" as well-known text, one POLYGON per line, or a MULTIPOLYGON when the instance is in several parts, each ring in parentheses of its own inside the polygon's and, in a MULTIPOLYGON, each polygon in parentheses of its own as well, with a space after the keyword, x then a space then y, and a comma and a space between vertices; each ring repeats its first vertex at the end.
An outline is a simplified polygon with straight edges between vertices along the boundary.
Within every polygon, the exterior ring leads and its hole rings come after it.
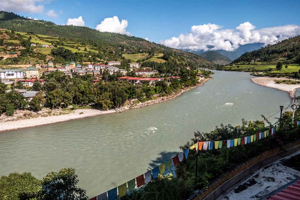
MULTIPOLYGON (((241 56, 242 54, 244 54, 246 52, 260 49, 261 47, 263 47, 263 45, 264 45, 264 43, 260 43, 260 42, 244 44, 244 45, 240 45, 235 51, 226 51, 226 50, 192 51, 192 50, 188 50, 188 49, 183 49, 183 50, 200 55, 201 57, 203 57, 211 62, 214 62, 215 64, 219 64, 219 65, 225 64, 226 65, 226 64, 230 63, 231 61, 237 59, 239 56, 241 56), (209 52, 209 53, 207 53, 207 52, 209 52), (212 52, 217 52, 218 54, 212 53, 212 52), (224 64, 221 64, 221 63, 224 63, 224 64)), ((212 49, 214 46, 207 45, 207 47, 209 49, 212 49)))

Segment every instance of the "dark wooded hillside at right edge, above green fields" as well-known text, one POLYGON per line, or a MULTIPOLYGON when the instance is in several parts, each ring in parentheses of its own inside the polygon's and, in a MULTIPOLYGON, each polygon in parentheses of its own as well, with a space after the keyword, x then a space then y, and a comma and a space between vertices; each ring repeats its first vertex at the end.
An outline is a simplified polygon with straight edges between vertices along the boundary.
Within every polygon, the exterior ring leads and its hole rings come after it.
POLYGON ((268 62, 276 64, 283 62, 286 64, 300 63, 300 36, 277 42, 273 45, 267 45, 261 49, 244 53, 233 63, 250 62, 259 59, 259 62, 268 62))

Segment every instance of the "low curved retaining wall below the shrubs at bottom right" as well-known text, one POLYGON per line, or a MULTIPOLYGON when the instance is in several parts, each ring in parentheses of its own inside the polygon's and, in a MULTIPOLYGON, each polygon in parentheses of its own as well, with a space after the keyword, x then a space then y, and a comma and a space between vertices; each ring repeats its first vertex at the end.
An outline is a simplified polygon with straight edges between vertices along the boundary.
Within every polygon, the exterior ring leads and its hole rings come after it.
POLYGON ((207 190, 201 191, 201 193, 193 198, 193 200, 215 200, 223 194, 223 192, 227 191, 257 169, 298 150, 300 150, 300 141, 284 145, 283 150, 276 148, 266 151, 265 153, 248 160, 247 163, 238 165, 234 170, 215 180, 207 190))

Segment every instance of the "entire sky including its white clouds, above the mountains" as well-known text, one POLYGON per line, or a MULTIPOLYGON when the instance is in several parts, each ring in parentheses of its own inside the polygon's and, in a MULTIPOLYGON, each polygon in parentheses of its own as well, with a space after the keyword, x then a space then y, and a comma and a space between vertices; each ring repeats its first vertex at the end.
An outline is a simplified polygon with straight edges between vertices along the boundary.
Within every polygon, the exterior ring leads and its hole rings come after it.
POLYGON ((59 25, 87 26, 173 48, 233 51, 239 44, 300 34, 300 1, 1 0, 0 10, 59 25))

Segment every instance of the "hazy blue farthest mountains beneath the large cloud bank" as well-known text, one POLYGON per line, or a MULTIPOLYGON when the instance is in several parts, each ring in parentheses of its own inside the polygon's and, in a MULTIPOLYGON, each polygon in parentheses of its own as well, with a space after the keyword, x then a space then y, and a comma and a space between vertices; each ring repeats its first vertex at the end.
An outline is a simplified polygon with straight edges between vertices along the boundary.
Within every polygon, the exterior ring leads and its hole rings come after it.
MULTIPOLYGON (((222 56, 225 56, 225 57, 229 58, 230 60, 235 60, 239 56, 241 56, 242 54, 244 54, 246 52, 249 52, 249 51, 257 50, 257 49, 263 47, 263 45, 264 45, 264 43, 256 42, 256 43, 249 43, 249 44, 240 45, 234 51, 226 51, 226 50, 215 50, 215 51, 217 53, 220 53, 222 56)), ((214 48, 214 46, 212 46, 212 45, 207 45, 207 47, 209 49, 214 48)), ((199 51, 185 50, 185 51, 193 52, 193 53, 196 53, 197 55, 200 55, 204 52, 203 50, 199 50, 199 51)))

